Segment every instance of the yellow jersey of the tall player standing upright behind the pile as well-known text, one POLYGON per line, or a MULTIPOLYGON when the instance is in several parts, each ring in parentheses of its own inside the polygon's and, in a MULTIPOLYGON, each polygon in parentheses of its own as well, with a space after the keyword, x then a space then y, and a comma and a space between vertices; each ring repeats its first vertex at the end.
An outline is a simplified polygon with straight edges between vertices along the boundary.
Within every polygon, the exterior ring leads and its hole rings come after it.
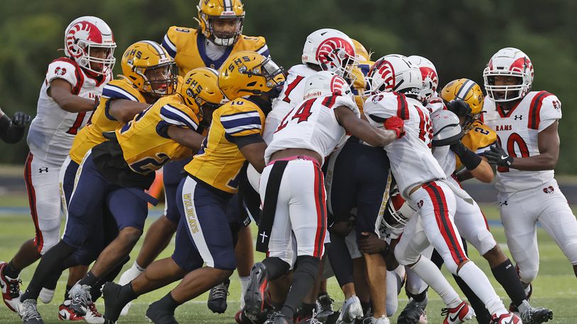
MULTIPOLYGON (((250 37, 240 35, 235 45, 226 47, 225 52, 218 59, 211 59, 206 54, 206 37, 194 28, 172 26, 164 35, 162 47, 174 58, 179 67, 179 74, 186 75, 197 67, 210 67, 218 70, 228 56, 233 52, 253 51, 269 57, 269 47, 264 37, 250 37)), ((216 46, 216 45, 215 45, 216 46)))

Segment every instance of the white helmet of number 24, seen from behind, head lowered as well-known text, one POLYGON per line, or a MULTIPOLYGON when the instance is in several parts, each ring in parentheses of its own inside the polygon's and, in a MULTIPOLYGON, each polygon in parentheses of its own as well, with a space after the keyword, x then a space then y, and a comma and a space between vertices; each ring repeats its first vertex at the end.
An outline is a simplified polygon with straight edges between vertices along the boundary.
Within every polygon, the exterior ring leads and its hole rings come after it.
POLYGON ((348 96, 352 100, 354 97, 347 81, 342 76, 329 71, 318 71, 304 80, 305 96, 303 100, 318 98, 323 96, 348 96))

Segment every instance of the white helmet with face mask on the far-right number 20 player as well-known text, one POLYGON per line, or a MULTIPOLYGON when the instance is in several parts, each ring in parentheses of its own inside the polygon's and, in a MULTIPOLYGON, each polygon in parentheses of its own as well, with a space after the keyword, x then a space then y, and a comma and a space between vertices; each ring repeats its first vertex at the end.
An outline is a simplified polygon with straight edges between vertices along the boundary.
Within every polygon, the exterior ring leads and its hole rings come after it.
POLYGON ((525 97, 533 84, 533 64, 521 50, 506 47, 496 52, 483 70, 485 91, 497 103, 505 103, 525 97), (495 86, 495 76, 515 76, 519 84, 495 86))

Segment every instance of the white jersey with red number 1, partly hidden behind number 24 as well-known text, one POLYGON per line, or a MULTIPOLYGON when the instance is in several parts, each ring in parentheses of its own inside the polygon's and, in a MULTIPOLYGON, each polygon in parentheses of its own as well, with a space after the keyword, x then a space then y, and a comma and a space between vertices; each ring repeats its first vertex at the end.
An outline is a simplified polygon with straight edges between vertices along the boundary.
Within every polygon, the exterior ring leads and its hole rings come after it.
POLYGON ((303 102, 305 96, 305 83, 302 82, 307 76, 316 71, 304 64, 298 64, 289 69, 281 94, 272 102, 272 110, 264 120, 264 132, 262 138, 267 144, 271 142, 272 134, 279 127, 281 120, 295 108, 295 105, 303 102))

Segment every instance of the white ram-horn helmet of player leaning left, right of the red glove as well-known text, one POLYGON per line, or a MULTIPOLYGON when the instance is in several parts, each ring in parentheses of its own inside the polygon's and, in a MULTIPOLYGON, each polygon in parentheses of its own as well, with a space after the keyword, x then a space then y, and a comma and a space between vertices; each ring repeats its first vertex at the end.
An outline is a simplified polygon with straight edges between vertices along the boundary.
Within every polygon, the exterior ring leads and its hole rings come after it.
POLYGON ((388 54, 377 59, 365 80, 369 89, 366 96, 395 91, 420 100, 421 71, 403 55, 388 54))

